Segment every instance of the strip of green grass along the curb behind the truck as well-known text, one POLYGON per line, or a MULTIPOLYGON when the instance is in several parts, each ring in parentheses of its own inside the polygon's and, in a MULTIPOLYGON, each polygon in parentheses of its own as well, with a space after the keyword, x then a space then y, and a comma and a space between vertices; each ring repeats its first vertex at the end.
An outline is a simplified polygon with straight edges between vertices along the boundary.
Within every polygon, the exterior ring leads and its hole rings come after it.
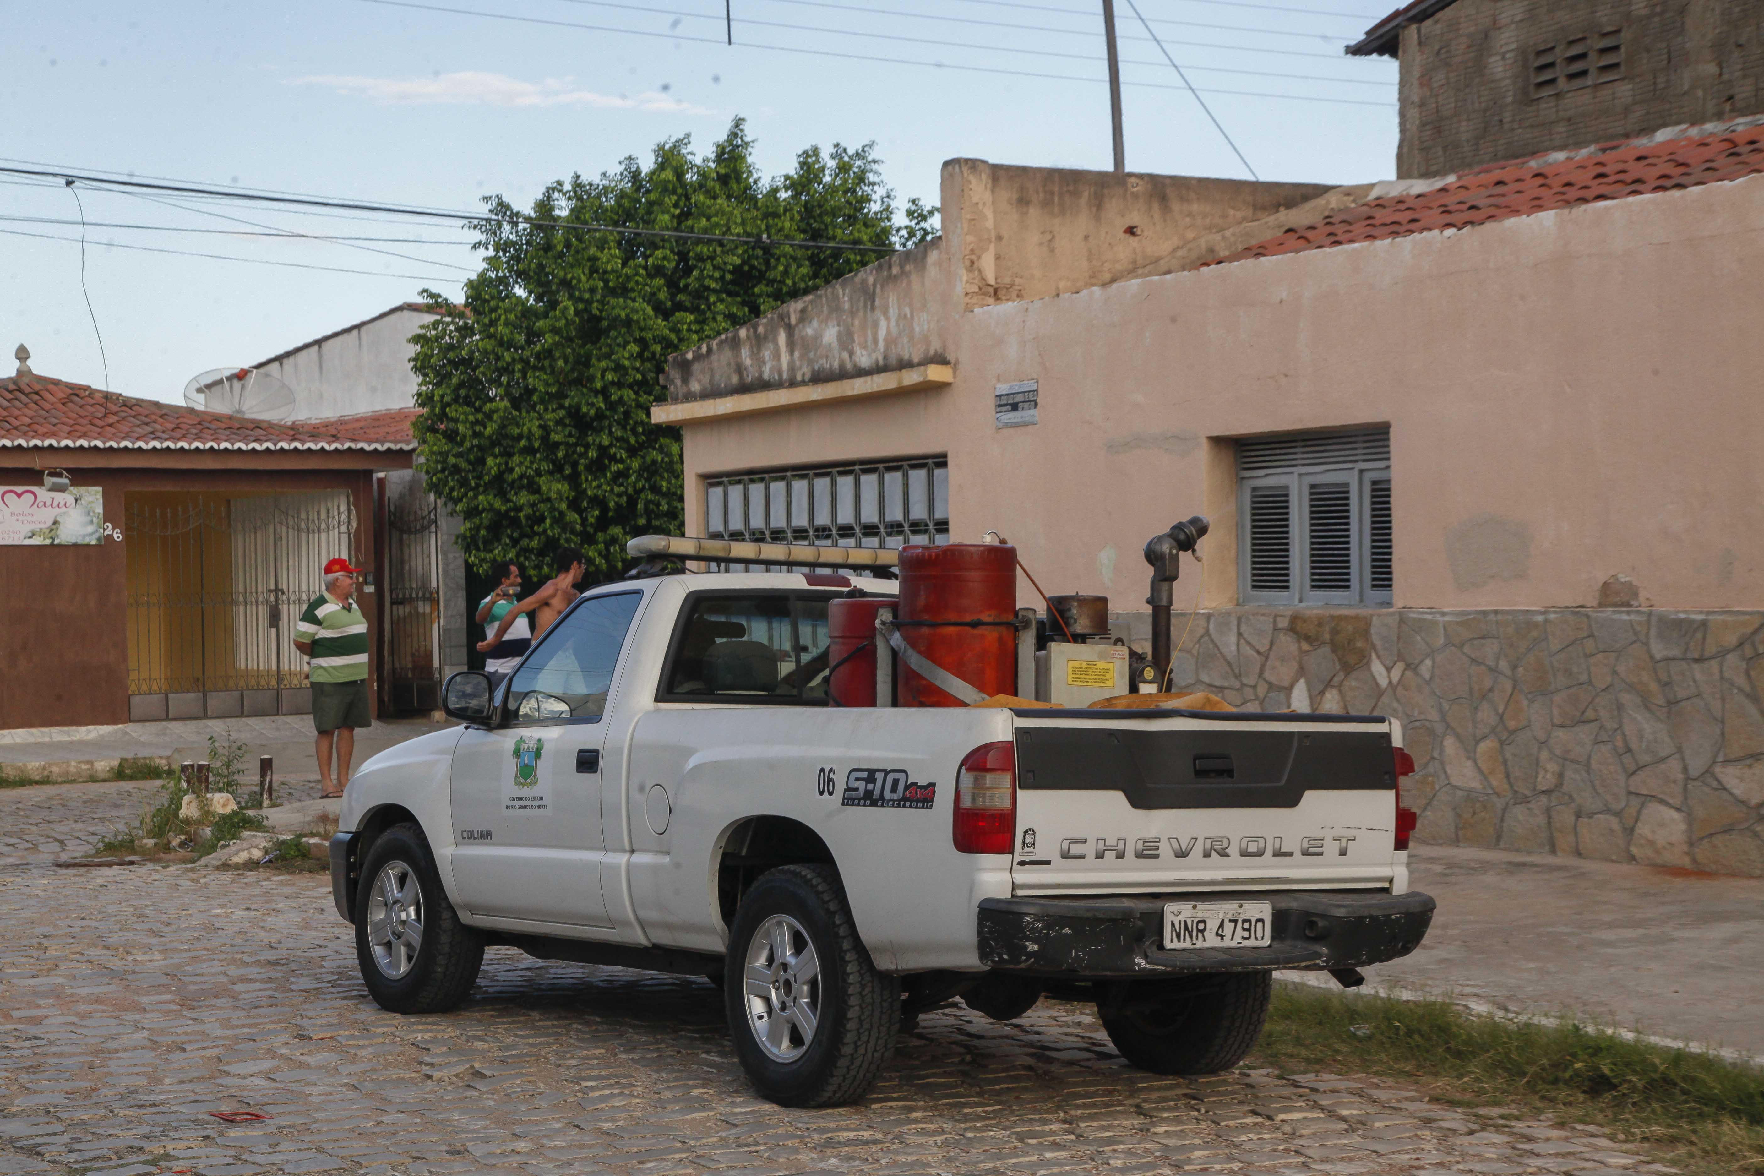
POLYGON ((1663 1148, 1686 1172, 1764 1174, 1764 1070, 1598 1024, 1277 984, 1254 1056, 1286 1072, 1378 1074, 1471 1104, 1528 1104, 1663 1148))

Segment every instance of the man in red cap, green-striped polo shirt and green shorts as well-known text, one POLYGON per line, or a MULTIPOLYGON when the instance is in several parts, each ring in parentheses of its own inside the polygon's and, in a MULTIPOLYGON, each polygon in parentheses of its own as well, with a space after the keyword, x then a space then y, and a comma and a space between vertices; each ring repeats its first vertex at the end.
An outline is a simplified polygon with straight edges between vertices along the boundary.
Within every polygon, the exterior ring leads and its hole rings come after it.
POLYGON ((367 705, 367 617, 355 605, 355 577, 360 571, 348 559, 325 564, 325 591, 312 598, 295 626, 295 649, 305 654, 310 666, 307 677, 312 681, 312 726, 319 733, 321 797, 342 795, 355 756, 355 728, 374 725, 367 705))

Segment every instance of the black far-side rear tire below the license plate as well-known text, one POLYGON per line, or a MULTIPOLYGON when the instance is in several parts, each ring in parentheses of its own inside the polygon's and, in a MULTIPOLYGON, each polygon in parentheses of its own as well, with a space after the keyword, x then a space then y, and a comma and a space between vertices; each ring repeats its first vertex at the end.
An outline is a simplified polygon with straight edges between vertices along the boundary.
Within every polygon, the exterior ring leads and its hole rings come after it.
POLYGON ((1097 1012, 1115 1049, 1138 1068, 1219 1074, 1254 1049, 1272 998, 1272 971, 1224 971, 1108 986, 1097 1012))

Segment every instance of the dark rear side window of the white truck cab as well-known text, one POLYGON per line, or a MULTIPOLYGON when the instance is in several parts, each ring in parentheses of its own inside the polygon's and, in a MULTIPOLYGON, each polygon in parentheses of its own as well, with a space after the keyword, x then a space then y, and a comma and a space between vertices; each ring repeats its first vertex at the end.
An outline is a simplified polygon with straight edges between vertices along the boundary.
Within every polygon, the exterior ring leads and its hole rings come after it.
POLYGON ((783 592, 691 601, 665 695, 729 702, 827 700, 827 599, 783 592))

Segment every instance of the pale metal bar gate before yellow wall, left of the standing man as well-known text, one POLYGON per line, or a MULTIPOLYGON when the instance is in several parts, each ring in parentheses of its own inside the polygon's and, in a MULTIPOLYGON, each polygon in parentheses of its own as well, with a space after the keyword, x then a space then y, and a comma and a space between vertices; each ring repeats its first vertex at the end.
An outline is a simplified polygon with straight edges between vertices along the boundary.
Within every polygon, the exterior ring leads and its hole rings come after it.
POLYGON ((295 621, 355 550, 349 494, 131 492, 123 517, 129 718, 310 711, 295 621))

